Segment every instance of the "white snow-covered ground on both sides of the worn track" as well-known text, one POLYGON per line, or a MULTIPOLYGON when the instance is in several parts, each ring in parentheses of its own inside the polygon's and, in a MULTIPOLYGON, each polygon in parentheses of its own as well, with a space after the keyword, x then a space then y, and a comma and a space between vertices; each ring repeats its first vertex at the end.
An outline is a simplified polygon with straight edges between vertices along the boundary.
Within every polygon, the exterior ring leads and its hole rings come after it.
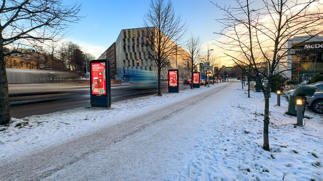
POLYGON ((284 114, 288 102, 281 99, 276 106, 272 94, 268 152, 261 148, 263 95, 247 96, 240 83, 226 82, 117 101, 111 109, 77 108, 13 119, 0 126, 0 168, 102 127, 175 106, 162 121, 45 180, 322 180, 323 116, 306 110, 304 126, 295 126, 296 117, 284 114))

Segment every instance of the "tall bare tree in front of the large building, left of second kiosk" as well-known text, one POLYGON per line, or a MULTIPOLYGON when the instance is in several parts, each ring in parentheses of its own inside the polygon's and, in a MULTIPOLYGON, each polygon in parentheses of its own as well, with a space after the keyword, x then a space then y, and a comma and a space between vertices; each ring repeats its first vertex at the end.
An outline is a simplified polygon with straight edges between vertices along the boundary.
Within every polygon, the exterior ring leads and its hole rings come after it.
POLYGON ((161 96, 161 70, 169 67, 170 56, 175 55, 186 31, 181 16, 176 16, 172 2, 151 0, 150 10, 144 16, 148 57, 155 61, 158 71, 158 96, 161 96))

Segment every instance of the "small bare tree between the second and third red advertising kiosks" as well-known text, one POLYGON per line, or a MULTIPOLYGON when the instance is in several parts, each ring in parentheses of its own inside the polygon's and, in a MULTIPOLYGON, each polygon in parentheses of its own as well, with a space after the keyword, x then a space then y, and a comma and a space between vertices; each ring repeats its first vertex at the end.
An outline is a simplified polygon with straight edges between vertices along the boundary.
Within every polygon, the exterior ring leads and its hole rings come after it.
MULTIPOLYGON (((201 53, 201 41, 199 37, 194 37, 191 35, 189 40, 186 43, 186 48, 188 50, 188 57, 186 61, 186 65, 188 70, 191 72, 191 80, 193 83, 193 72, 197 69, 199 65, 199 58, 201 53)), ((191 89, 192 89, 191 85, 191 89)))

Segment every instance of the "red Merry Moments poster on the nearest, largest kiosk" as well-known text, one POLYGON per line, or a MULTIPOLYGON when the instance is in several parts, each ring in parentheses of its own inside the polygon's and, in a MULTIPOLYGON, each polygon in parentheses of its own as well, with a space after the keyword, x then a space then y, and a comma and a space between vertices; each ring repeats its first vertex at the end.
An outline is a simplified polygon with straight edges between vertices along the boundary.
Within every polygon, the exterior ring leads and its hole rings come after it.
POLYGON ((106 95, 106 77, 105 77, 105 63, 93 62, 91 63, 92 74, 92 94, 93 95, 106 95))

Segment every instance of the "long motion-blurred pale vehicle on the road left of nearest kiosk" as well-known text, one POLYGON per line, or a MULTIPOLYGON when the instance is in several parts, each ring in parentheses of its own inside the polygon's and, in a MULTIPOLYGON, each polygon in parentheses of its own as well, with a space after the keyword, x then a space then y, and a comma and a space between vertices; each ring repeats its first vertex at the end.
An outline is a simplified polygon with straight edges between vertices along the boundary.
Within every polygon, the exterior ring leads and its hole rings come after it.
POLYGON ((7 68, 6 74, 10 102, 66 97, 90 89, 88 80, 73 72, 7 68))

